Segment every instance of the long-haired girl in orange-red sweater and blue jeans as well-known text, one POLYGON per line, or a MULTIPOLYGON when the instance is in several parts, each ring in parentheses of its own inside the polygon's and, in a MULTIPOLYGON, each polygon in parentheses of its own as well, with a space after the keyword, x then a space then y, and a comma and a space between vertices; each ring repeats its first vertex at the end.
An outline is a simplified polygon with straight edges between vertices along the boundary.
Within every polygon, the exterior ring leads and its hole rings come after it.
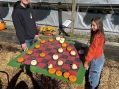
POLYGON ((100 17, 93 18, 91 21, 91 38, 90 47, 85 57, 84 67, 89 68, 89 82, 91 89, 95 89, 99 84, 101 70, 104 65, 105 57, 103 47, 105 43, 105 35, 103 23, 100 17))

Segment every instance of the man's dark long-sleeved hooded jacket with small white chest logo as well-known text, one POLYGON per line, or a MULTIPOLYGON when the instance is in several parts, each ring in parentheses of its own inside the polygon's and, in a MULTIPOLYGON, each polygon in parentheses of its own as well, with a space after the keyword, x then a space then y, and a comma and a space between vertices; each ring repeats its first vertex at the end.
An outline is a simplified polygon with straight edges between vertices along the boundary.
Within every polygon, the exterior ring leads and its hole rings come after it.
POLYGON ((33 10, 29 6, 24 8, 20 5, 19 1, 16 2, 12 13, 12 20, 20 44, 25 43, 25 40, 34 39, 34 36, 38 34, 33 10))

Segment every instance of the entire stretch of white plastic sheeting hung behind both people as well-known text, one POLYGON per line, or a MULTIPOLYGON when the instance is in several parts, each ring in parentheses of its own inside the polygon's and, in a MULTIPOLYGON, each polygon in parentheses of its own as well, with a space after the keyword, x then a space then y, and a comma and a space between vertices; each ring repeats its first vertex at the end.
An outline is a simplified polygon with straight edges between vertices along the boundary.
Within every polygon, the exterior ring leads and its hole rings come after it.
MULTIPOLYGON (((9 7, 9 12, 5 18, 6 21, 12 21, 11 14, 12 14, 12 7, 9 7)), ((59 17, 58 11, 55 10, 34 10, 36 13, 35 17, 37 17, 37 24, 44 24, 44 25, 53 25, 59 26, 59 20, 62 20, 62 24, 67 19, 71 20, 71 12, 70 11, 62 11, 62 17, 59 17)), ((61 13, 60 13, 61 15, 61 13)), ((92 13, 83 13, 78 12, 76 13, 75 18, 75 28, 87 30, 90 29, 90 20, 95 16, 101 16, 104 23, 104 30, 109 32, 118 32, 119 33, 119 15, 112 15, 112 14, 92 14, 92 13)), ((68 27, 71 27, 69 25, 68 27)))

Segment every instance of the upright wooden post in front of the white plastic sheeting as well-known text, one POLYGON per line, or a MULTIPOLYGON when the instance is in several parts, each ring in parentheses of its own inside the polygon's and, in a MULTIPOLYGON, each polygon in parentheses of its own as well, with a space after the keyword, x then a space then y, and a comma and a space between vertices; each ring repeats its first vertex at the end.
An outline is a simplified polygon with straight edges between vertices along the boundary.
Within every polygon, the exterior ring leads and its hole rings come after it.
POLYGON ((76 18, 76 0, 72 0, 72 12, 71 12, 71 36, 74 35, 74 26, 75 26, 75 18, 76 18))

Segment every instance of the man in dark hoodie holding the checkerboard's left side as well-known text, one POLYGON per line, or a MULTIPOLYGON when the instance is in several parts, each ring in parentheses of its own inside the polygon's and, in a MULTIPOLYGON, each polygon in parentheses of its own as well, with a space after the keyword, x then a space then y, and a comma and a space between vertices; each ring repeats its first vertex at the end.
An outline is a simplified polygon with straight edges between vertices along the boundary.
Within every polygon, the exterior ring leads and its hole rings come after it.
POLYGON ((29 0, 20 0, 15 3, 12 13, 16 35, 23 50, 27 50, 39 38, 29 0))

